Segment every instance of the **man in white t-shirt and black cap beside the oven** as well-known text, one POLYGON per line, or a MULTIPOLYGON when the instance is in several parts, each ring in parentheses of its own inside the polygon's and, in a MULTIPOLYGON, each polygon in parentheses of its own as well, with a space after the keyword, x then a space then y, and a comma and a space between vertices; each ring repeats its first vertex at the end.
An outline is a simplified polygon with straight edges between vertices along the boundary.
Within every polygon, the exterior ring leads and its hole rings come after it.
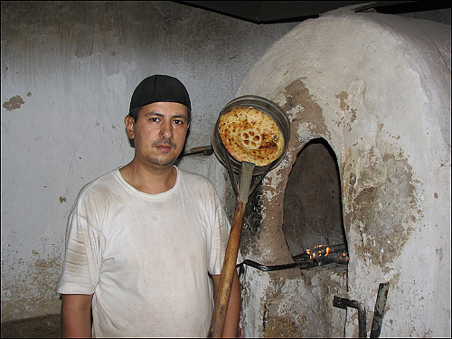
MULTIPOLYGON (((207 335, 230 225, 213 185, 174 166, 190 115, 175 78, 135 89, 125 118, 134 159, 84 186, 71 210, 63 337, 207 335)), ((239 312, 236 274, 223 336, 237 335, 239 312)))

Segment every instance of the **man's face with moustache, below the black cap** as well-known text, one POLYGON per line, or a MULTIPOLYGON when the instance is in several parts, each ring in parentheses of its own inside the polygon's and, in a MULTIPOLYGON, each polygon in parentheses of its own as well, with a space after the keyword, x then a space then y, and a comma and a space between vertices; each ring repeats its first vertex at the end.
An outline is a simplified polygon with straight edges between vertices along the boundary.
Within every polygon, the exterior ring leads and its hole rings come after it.
POLYGON ((134 139, 136 158, 158 168, 171 167, 184 148, 187 108, 177 102, 155 102, 141 108, 137 122, 125 119, 128 137, 134 139))

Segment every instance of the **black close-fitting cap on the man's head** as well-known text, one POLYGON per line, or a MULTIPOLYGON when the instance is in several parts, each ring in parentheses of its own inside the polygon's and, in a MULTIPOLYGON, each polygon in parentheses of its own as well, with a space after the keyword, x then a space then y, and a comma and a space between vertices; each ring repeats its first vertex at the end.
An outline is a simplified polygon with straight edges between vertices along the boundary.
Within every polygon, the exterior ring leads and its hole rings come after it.
POLYGON ((130 100, 130 109, 153 102, 178 102, 192 109, 184 84, 168 75, 156 74, 141 81, 130 100))

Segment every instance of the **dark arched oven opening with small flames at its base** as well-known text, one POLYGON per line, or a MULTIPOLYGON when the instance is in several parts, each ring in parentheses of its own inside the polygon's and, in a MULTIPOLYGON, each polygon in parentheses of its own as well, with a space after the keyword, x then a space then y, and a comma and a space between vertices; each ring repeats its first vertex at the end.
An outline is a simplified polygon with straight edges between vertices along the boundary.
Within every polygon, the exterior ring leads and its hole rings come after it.
POLYGON ((299 268, 341 268, 348 264, 337 159, 325 139, 313 139, 298 153, 284 196, 283 232, 299 268))

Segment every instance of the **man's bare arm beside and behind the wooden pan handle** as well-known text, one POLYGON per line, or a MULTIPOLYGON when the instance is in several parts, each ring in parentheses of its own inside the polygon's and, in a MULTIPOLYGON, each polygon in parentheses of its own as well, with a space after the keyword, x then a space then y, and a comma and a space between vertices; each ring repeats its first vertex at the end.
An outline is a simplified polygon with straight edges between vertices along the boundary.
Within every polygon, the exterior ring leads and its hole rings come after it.
MULTIPOLYGON (((220 287, 221 274, 212 276, 214 297, 217 296, 218 288, 220 287)), ((232 280, 231 297, 229 299, 228 310, 224 321, 223 338, 236 338, 239 329, 239 315, 240 315, 240 281, 237 275, 237 270, 234 269, 234 278, 232 280)))

